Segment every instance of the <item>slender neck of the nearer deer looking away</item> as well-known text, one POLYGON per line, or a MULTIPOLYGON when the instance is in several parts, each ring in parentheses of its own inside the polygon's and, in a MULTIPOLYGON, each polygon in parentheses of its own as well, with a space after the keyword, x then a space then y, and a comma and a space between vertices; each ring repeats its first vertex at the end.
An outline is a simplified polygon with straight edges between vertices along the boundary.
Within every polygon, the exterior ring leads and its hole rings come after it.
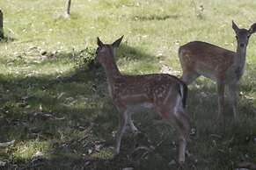
POLYGON ((109 58, 106 63, 103 64, 106 72, 106 79, 110 85, 112 85, 116 77, 120 76, 121 73, 116 65, 116 62, 113 58, 109 58))

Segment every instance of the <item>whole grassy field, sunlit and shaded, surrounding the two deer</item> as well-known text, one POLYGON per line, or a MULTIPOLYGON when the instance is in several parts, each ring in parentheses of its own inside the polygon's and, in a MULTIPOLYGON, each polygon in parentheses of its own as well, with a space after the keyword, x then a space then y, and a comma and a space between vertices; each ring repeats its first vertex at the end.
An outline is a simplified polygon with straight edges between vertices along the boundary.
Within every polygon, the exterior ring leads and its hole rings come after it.
POLYGON ((179 46, 196 39, 235 50, 231 20, 249 28, 256 1, 76 0, 70 19, 62 18, 64 4, 0 1, 6 36, 0 42, 0 142, 15 140, 0 148, 1 169, 230 170, 256 162, 255 35, 239 85, 238 120, 226 107, 223 123, 216 122, 212 81, 189 86, 195 133, 183 167, 176 163, 175 131, 156 124, 153 112, 134 116, 142 134, 128 134, 113 157, 118 113, 102 68, 86 62, 96 37, 112 43, 125 35, 117 56, 122 73, 180 76, 179 46))

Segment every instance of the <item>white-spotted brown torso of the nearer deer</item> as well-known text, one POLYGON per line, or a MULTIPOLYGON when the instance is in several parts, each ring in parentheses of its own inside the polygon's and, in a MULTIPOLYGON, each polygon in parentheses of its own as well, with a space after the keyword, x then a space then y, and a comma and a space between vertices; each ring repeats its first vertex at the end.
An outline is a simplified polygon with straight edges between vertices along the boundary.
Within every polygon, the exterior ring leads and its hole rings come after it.
POLYGON ((149 107, 165 102, 168 91, 183 88, 183 82, 169 74, 119 75, 108 86, 114 102, 121 100, 126 106, 148 103, 149 107))

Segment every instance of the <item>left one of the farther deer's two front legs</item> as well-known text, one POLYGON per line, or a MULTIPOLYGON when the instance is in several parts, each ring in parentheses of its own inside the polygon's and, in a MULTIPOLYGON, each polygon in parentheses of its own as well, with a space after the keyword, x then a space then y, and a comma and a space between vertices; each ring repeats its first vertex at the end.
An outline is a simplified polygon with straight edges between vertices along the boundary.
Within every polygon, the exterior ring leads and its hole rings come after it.
POLYGON ((218 94, 218 116, 223 116, 223 110, 224 110, 224 90, 225 90, 225 84, 223 82, 217 82, 217 94, 218 94))

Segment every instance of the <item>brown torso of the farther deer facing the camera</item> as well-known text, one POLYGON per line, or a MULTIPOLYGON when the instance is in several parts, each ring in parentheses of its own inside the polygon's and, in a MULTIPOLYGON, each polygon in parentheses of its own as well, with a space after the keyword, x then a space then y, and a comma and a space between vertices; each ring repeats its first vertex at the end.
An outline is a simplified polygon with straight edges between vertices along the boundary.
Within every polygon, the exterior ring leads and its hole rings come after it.
MULTIPOLYGON (((186 72, 194 72, 213 81, 237 83, 244 73, 245 58, 236 64, 237 53, 206 42, 194 41, 180 46, 179 56, 186 72)), ((192 80, 187 78, 186 81, 189 84, 192 80)))

